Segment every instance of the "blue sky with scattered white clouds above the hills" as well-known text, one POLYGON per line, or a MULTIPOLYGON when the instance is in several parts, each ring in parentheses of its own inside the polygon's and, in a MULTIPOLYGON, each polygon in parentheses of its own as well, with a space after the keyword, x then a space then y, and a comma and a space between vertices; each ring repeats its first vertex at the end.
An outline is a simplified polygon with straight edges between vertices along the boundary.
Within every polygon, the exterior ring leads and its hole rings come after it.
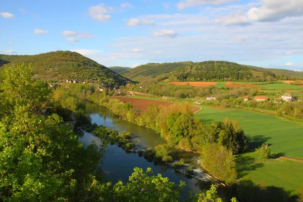
POLYGON ((223 60, 303 71, 303 0, 0 0, 0 54, 107 67, 223 60))

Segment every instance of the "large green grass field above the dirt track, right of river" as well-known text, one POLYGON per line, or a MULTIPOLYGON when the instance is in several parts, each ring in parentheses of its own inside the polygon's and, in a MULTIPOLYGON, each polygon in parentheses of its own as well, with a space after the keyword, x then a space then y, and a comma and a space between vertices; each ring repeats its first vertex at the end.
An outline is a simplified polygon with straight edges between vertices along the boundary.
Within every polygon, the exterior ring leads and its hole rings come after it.
POLYGON ((203 111, 195 114, 204 122, 223 121, 225 117, 238 120, 240 127, 250 138, 249 147, 257 148, 268 143, 272 153, 303 158, 303 124, 294 123, 276 116, 238 109, 217 109, 201 106, 203 111))

